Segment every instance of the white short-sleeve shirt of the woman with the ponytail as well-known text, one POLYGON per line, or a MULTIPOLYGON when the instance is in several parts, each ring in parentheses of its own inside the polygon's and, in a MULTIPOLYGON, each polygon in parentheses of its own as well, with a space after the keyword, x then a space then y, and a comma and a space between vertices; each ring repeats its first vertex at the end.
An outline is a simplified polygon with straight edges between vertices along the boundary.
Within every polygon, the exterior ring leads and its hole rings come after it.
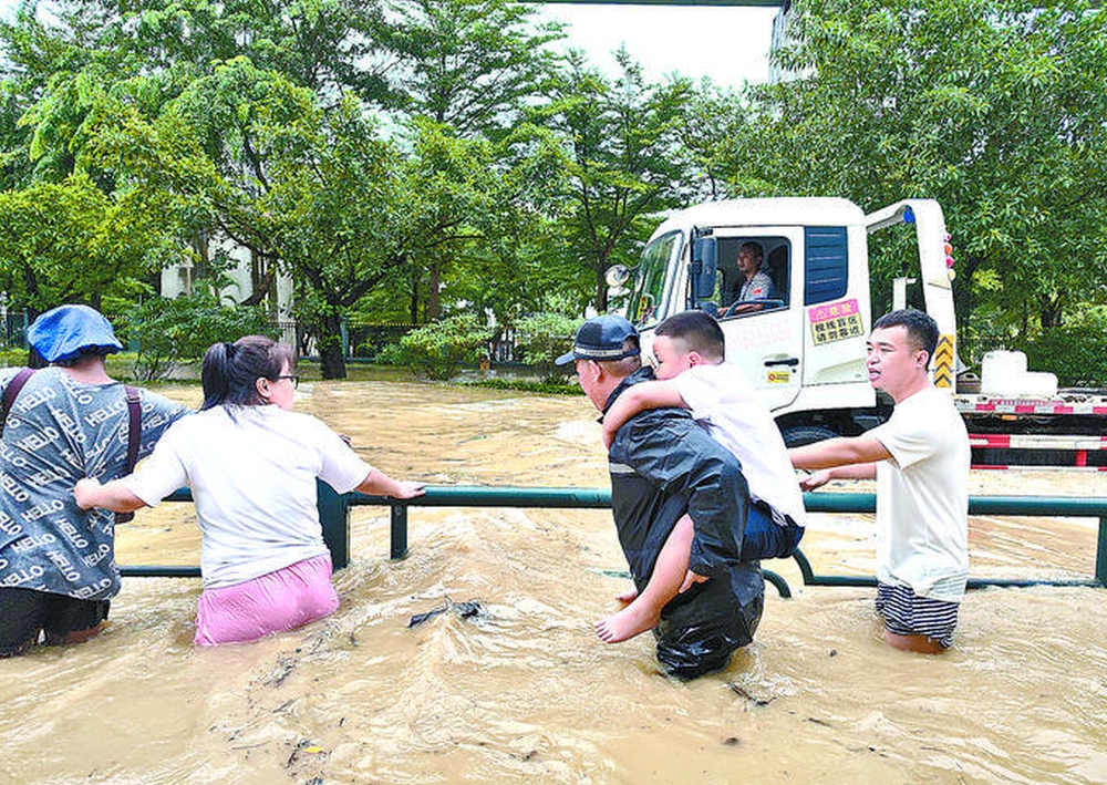
POLYGON ((315 417, 273 405, 215 406, 175 423, 124 482, 151 506, 192 489, 204 586, 216 588, 325 554, 315 478, 342 494, 370 472, 315 417))

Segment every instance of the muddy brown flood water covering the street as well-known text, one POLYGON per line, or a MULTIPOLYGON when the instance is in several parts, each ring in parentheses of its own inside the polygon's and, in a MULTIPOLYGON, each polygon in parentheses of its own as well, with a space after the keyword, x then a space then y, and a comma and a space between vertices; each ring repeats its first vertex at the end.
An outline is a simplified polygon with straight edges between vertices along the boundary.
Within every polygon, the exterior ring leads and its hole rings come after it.
MULTIPOLYGON (((169 389, 195 404, 196 388, 169 389)), ((582 396, 302 384, 298 409, 393 476, 607 487, 582 396)), ((1107 473, 980 473, 974 494, 1107 496, 1107 473)), ((865 487, 844 489, 869 489, 865 487)), ((652 638, 602 643, 625 569, 608 510, 353 509, 330 619, 196 649, 194 579, 130 578, 113 624, 0 660, 2 783, 1107 783, 1107 593, 970 592, 954 648, 880 640, 873 590, 766 587, 756 641, 680 683, 652 638), (408 628, 415 613, 476 600, 408 628)), ((974 577, 1087 577, 1097 521, 974 518, 974 577)), ((813 516, 818 572, 871 575, 871 516, 813 516)), ((198 564, 189 504, 118 530, 121 564, 198 564)))

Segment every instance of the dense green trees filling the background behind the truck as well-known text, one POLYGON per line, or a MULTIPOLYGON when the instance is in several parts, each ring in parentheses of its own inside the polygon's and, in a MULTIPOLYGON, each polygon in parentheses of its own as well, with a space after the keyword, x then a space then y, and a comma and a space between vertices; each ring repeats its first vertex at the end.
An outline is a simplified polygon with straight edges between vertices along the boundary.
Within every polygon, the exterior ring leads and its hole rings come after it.
MULTIPOLYGON (((787 78, 743 90, 559 58, 514 0, 49 10, 0 23, 9 307, 126 309, 234 246, 244 304, 275 314, 290 278, 341 376, 344 319, 603 311, 658 213, 764 195, 937 198, 964 335, 1033 342, 1107 302, 1107 13, 1086 0, 796 0, 787 78)), ((913 249, 871 250, 880 300, 913 249)))

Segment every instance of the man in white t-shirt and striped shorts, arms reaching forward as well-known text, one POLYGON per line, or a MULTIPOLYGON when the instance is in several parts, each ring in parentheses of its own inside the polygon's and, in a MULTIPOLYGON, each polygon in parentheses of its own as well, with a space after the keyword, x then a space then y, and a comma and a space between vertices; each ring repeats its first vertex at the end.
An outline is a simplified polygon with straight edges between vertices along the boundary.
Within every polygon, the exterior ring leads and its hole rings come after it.
POLYGON ((790 452, 796 468, 830 479, 877 478, 877 612, 898 649, 938 653, 953 642, 969 577, 969 435, 927 366, 938 324, 922 311, 892 311, 872 326, 869 381, 896 402, 882 425, 852 438, 790 452))

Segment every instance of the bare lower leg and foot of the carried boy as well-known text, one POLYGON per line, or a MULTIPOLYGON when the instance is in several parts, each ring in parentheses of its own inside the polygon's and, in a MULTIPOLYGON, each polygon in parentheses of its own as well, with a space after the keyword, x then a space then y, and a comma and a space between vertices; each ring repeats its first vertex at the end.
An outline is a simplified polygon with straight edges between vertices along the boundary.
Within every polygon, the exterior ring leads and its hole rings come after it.
POLYGON ((608 643, 619 643, 658 626, 661 609, 676 597, 684 583, 692 555, 692 518, 684 515, 658 554, 645 589, 637 597, 631 592, 620 595, 620 599, 627 597, 632 601, 618 613, 596 622, 596 634, 608 643))

